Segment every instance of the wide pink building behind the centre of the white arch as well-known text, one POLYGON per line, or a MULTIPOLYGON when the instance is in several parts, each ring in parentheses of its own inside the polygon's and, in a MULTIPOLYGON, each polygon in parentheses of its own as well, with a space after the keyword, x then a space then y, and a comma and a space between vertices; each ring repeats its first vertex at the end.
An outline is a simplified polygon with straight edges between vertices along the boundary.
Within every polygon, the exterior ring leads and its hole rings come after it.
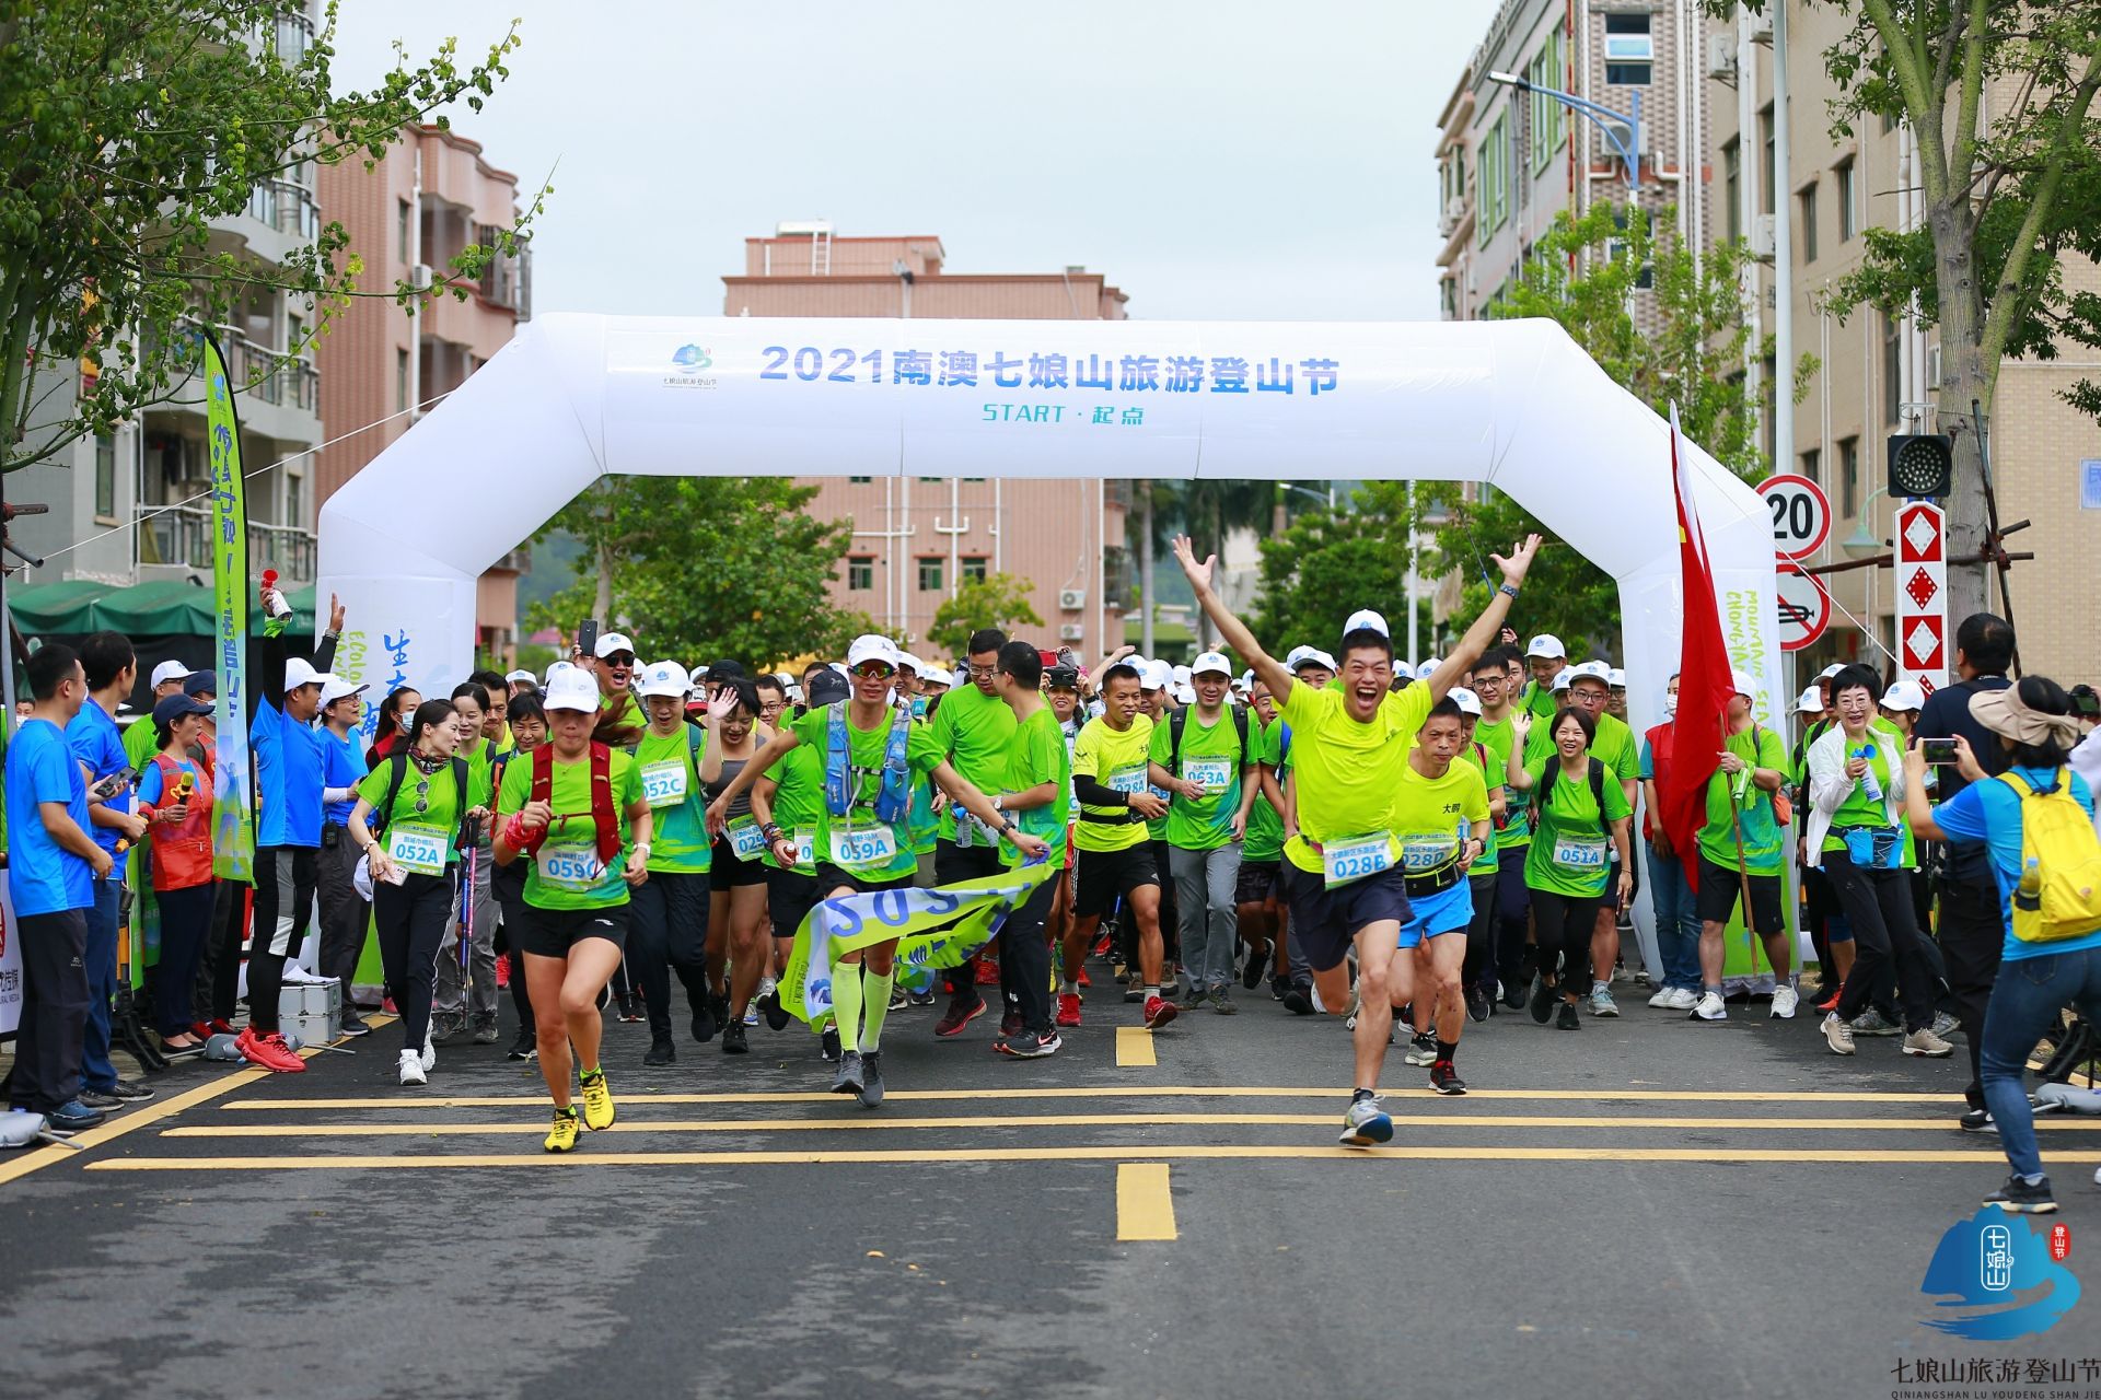
MULTIPOLYGON (((830 225, 782 225, 744 241, 744 273, 723 277, 723 315, 1122 321, 1124 294, 1101 273, 950 273, 939 237, 834 237, 830 225)), ((1044 619, 1027 640, 1097 657, 1122 638, 1130 602, 1122 481, 939 476, 809 479, 809 510, 853 521, 832 602, 868 613, 918 646, 958 586, 1013 573, 1036 588, 1044 619)), ((927 657, 935 659, 935 657, 927 657)), ((950 657, 939 657, 948 661, 950 657)))

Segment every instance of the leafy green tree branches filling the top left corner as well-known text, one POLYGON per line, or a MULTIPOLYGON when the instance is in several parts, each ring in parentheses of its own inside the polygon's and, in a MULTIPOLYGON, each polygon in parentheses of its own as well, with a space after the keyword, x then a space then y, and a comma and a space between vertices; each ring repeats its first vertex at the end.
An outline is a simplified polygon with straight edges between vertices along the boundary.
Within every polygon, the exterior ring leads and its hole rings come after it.
MULTIPOLYGON (((479 111, 519 44, 513 25, 466 63, 448 40, 338 94, 336 6, 311 42, 303 15, 296 0, 0 0, 0 468, 202 397, 189 384, 193 327, 237 323, 258 296, 311 300, 290 359, 351 296, 464 300, 490 256, 513 252, 517 231, 504 231, 429 292, 361 290, 336 222, 273 264, 214 233, 258 189, 282 193, 271 181, 311 185, 315 166, 370 164, 401 126, 443 126, 450 103, 479 111), (76 403, 82 361, 95 374, 76 403)), ((250 384, 282 363, 252 365, 250 384)))

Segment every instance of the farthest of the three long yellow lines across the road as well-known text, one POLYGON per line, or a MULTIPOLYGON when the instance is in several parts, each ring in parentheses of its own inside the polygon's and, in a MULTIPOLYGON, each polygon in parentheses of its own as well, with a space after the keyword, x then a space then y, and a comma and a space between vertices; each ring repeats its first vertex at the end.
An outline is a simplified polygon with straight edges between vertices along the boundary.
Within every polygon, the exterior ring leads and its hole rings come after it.
MULTIPOLYGON (((1132 1035, 1147 1037, 1137 1026, 1118 1026, 1132 1035)), ((1151 1039, 1143 1041, 1151 1047, 1151 1039)), ((1347 1089, 1334 1085, 1326 1089, 1216 1089, 1202 1085, 1164 1085, 1158 1089, 891 1089, 887 1102, 958 1102, 958 1100, 1021 1100, 1021 1098, 1319 1098, 1345 1100, 1347 1089)), ((1469 1100, 1477 1098, 1519 1098, 1544 1102, 1658 1102, 1658 1104, 1960 1104, 1960 1094, 1914 1094, 1914 1091, 1719 1091, 1698 1089, 1466 1089, 1469 1100)), ((622 1104, 836 1104, 836 1094, 628 1094, 620 1091, 622 1104)), ((460 1094, 452 1098, 395 1096, 395 1098, 237 1098, 221 1108, 248 1112, 284 1112, 300 1108, 521 1108, 546 1106, 546 1094, 460 1094)), ((2040 1121, 2040 1119, 2038 1119, 2040 1121)))

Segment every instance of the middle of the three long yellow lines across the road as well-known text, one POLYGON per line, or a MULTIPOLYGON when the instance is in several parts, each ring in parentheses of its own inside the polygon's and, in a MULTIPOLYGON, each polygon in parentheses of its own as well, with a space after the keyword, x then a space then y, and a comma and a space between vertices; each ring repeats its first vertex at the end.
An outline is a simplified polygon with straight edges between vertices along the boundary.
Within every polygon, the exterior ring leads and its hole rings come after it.
MULTIPOLYGON (((1391 1104, 1391 1100, 1389 1100, 1391 1104)), ((1601 1119, 1601 1117, 1527 1117, 1488 1112, 1395 1112, 1393 1121, 1416 1127, 1603 1127, 1603 1129, 1723 1129, 1723 1131, 1948 1131, 1948 1119, 1601 1119)), ((706 1119, 649 1121, 624 1119, 628 1127, 647 1133, 830 1133, 864 1129, 979 1129, 979 1127, 1305 1127, 1334 1123, 1332 1112, 1048 1112, 987 1115, 943 1119, 706 1119)), ((2038 1129, 2101 1131, 2101 1119, 2036 1119, 2038 1129)), ((546 1123, 210 1123, 162 1129, 162 1138, 439 1138, 475 1133, 544 1133, 546 1123)))

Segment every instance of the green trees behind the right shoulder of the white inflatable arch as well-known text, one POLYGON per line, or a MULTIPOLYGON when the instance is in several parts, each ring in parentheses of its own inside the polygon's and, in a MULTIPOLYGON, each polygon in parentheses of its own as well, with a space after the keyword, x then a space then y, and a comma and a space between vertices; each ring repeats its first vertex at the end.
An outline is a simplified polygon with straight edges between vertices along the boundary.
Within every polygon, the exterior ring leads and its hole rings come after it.
MULTIPOLYGON (((1614 382, 1658 413, 1677 403, 1685 437, 1738 476, 1756 481, 1767 460, 1756 432, 1759 405, 1744 382, 1750 348, 1744 258, 1742 243, 1721 243, 1696 260, 1677 235, 1674 210, 1651 218, 1599 204, 1582 218, 1565 212, 1555 218, 1490 317, 1559 321, 1614 382)), ((1813 374, 1815 359, 1805 355, 1794 372, 1796 399, 1813 374)), ((1509 554, 1517 539, 1540 531, 1546 546, 1532 565, 1513 625, 1553 632, 1572 649, 1586 642, 1618 651, 1618 586, 1515 500, 1494 489, 1475 489, 1469 500, 1462 483, 1435 481, 1422 483, 1422 512, 1433 546, 1420 569, 1462 581, 1460 619, 1488 607, 1488 577, 1494 577, 1488 556, 1509 554)))

